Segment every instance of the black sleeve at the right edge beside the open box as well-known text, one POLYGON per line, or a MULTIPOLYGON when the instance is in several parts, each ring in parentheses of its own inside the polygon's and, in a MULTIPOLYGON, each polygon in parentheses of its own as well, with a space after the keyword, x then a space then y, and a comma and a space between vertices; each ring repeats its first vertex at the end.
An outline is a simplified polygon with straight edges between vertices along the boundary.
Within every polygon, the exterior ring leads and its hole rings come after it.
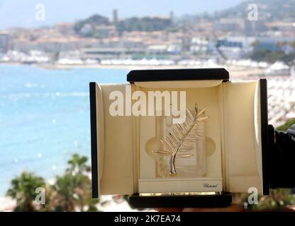
POLYGON ((286 132, 274 131, 270 155, 270 187, 295 187, 295 124, 286 132))

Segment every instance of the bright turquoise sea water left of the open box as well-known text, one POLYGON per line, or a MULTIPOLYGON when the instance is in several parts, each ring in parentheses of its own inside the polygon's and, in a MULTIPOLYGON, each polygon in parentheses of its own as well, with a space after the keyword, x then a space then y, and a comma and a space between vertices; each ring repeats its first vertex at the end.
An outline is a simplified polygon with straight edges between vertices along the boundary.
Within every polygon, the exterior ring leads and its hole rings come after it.
POLYGON ((0 196, 25 169, 52 179, 73 153, 90 158, 89 82, 124 82, 126 73, 0 65, 0 196))

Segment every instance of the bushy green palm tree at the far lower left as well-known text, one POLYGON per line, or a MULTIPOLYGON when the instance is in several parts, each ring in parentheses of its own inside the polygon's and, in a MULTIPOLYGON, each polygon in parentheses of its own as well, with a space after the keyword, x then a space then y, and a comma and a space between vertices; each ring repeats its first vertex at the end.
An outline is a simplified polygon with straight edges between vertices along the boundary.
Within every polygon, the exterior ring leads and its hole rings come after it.
POLYGON ((37 210, 34 206, 38 187, 45 188, 45 182, 42 177, 35 176, 30 172, 23 172, 19 177, 11 180, 11 187, 7 191, 7 196, 16 199, 15 211, 34 211, 37 210))

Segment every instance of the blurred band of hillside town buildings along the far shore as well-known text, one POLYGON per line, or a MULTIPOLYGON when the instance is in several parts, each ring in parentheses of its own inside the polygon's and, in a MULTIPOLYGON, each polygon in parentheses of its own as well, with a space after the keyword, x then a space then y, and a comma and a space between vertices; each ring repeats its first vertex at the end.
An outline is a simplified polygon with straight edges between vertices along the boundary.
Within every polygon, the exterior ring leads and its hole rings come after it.
POLYGON ((112 18, 95 14, 75 23, 11 28, 0 33, 0 61, 233 66, 289 75, 295 64, 294 18, 280 21, 262 12, 252 21, 235 11, 230 15, 119 18, 115 9, 112 18))

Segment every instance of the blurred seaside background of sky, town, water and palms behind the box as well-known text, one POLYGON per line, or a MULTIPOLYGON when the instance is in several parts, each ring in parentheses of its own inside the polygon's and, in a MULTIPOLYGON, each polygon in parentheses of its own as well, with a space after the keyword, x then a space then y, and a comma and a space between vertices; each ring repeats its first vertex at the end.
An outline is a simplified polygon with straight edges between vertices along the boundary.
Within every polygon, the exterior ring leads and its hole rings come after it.
MULTIPOLYGON (((295 123, 295 0, 1 0, 0 210, 134 210, 90 198, 89 82, 211 67, 267 77, 269 124, 295 123)), ((246 196, 248 209, 294 205, 291 190, 246 196)))

